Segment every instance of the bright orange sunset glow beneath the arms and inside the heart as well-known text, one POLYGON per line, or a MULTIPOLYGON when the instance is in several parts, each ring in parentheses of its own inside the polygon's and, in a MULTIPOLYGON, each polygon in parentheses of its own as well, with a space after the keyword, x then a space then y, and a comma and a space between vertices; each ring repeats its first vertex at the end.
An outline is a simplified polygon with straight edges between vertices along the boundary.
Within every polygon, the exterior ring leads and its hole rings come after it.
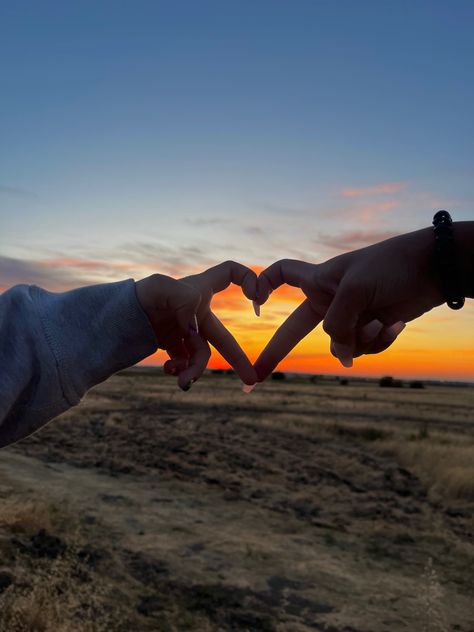
MULTIPOLYGON (((252 304, 240 288, 231 286, 216 295, 213 311, 241 344, 251 361, 270 340, 275 329, 303 300, 296 288, 283 286, 262 306, 257 318, 252 304)), ((474 309, 467 302, 464 313, 454 313, 442 306, 421 319, 408 323, 392 348, 383 354, 362 356, 346 369, 329 353, 329 338, 319 325, 301 341, 278 366, 279 370, 301 373, 373 376, 394 375, 404 378, 474 380, 472 331, 474 309)), ((142 364, 161 365, 167 355, 158 351, 142 364)), ((210 368, 229 365, 214 349, 210 368)))

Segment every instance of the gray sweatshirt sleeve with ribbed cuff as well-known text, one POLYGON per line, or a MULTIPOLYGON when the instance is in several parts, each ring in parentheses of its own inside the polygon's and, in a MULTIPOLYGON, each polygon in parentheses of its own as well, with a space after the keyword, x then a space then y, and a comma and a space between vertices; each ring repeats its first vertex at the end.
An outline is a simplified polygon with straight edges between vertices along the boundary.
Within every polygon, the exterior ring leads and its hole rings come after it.
POLYGON ((35 432, 84 393, 157 348, 133 279, 0 295, 0 447, 35 432))

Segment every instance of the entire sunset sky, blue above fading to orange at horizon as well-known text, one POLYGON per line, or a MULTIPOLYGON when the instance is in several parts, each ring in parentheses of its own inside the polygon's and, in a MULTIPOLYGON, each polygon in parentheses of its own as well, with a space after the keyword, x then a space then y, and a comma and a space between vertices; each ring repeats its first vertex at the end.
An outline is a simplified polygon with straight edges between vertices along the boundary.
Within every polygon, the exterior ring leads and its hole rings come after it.
MULTIPOLYGON (((0 2, 0 288, 322 262, 474 219, 474 2, 0 2)), ((254 359, 301 300, 215 312, 254 359)), ((474 307, 342 369, 474 380, 474 307)), ((161 363, 163 354, 147 359, 161 363)), ((213 354, 211 365, 224 366, 213 354)))

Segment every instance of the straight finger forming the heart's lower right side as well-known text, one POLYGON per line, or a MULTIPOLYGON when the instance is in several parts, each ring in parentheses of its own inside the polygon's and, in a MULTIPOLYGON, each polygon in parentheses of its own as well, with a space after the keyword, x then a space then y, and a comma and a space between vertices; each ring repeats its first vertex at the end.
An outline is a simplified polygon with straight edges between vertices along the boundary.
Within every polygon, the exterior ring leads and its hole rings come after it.
POLYGON ((309 300, 303 301, 277 329, 254 364, 258 381, 262 382, 275 367, 307 336, 322 320, 309 300))

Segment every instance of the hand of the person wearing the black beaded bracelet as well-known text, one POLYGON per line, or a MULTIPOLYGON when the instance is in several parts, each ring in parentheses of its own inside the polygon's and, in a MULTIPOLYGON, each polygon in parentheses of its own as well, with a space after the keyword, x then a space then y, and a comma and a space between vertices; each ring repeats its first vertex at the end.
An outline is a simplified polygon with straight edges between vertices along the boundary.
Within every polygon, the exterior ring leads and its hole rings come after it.
POLYGON ((423 229, 323 264, 285 259, 264 270, 258 278, 260 305, 283 283, 301 288, 307 298, 258 357, 259 381, 321 321, 331 353, 343 366, 389 347, 406 322, 444 302, 430 271, 433 250, 432 231, 423 229))

